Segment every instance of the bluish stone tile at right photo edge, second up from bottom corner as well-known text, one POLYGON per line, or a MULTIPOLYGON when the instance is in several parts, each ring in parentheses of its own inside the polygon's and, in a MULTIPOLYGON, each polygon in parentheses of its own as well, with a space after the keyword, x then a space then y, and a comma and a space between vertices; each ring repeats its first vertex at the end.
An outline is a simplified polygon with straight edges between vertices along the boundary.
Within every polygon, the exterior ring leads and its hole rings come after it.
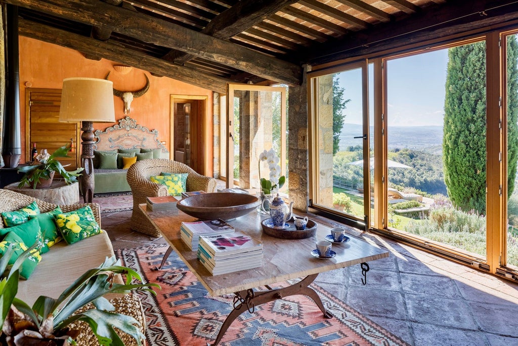
POLYGON ((495 305, 491 303, 469 302, 482 330, 518 338, 518 305, 495 305))

